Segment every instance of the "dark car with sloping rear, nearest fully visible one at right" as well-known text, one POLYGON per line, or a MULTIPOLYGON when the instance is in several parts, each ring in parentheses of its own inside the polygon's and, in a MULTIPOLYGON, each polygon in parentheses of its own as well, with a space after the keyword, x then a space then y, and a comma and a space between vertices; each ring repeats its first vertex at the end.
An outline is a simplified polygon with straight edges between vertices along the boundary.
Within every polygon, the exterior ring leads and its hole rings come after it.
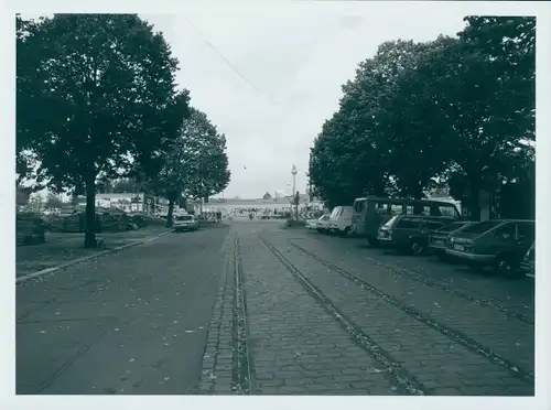
POLYGON ((504 276, 517 276, 534 237, 533 220, 484 220, 452 235, 446 253, 462 259, 475 271, 490 266, 504 276))

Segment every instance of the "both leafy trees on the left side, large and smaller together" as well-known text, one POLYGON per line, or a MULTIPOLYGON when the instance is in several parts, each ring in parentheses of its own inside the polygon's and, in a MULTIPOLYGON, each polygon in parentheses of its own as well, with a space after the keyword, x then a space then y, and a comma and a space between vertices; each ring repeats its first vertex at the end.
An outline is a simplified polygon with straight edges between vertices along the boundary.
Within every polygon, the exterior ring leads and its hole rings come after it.
POLYGON ((15 187, 85 195, 85 247, 97 246, 95 197, 109 181, 166 197, 168 226, 182 196, 228 185, 226 137, 179 88, 161 32, 137 14, 15 19, 15 187))

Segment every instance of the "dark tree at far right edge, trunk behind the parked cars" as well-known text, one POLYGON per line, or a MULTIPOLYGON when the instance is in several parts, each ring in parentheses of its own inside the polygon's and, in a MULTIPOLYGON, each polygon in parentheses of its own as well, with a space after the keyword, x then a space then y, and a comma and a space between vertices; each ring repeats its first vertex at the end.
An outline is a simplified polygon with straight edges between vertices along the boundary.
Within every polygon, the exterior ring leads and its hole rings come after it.
MULTIPOLYGON (((479 193, 493 191, 510 168, 518 141, 534 136, 534 24, 532 18, 466 18, 458 41, 433 53, 415 76, 430 78, 441 107, 446 145, 465 176, 473 219, 479 193)), ((423 79, 419 79, 422 82, 423 79)), ((429 106, 421 104, 423 107, 429 106)))

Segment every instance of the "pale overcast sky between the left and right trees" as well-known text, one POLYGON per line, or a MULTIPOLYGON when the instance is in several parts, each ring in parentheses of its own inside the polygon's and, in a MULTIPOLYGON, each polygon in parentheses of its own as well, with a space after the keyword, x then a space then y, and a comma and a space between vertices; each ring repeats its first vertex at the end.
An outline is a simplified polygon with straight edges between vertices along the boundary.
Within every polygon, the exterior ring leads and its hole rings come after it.
POLYGON ((177 82, 191 90, 192 105, 226 134, 231 170, 226 197, 290 190, 293 163, 296 187, 304 192, 310 147, 338 108, 341 86, 358 63, 388 40, 455 35, 465 15, 456 6, 426 12, 431 3, 421 4, 414 18, 412 8, 400 3, 393 12, 372 3, 283 4, 141 14, 164 33, 180 60, 177 82))

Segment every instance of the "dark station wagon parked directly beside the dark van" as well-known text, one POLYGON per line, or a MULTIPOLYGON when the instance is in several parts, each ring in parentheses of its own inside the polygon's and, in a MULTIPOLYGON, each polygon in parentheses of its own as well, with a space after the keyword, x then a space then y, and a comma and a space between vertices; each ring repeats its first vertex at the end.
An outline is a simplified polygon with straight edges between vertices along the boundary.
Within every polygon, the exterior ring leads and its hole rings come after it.
POLYGON ((395 215, 379 228, 377 240, 398 250, 421 255, 428 248, 429 235, 454 220, 447 216, 395 215))

